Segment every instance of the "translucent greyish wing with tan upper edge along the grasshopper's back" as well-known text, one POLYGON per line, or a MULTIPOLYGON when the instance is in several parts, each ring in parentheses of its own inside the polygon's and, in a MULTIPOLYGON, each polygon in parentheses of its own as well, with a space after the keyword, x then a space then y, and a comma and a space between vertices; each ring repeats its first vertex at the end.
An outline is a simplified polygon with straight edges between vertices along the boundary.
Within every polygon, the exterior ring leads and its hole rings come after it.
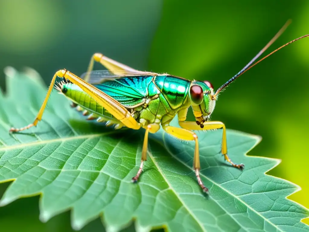
MULTIPOLYGON (((114 74, 112 71, 109 70, 94 70, 90 72, 88 83, 89 84, 101 84, 105 81, 108 80, 113 80, 113 79, 119 79, 123 77, 138 77, 138 76, 156 76, 158 75, 157 73, 153 72, 143 72, 143 71, 138 71, 138 72, 129 72, 129 71, 117 71, 118 74, 114 74)), ((86 77, 87 72, 83 73, 81 75, 81 78, 84 79, 86 77)))

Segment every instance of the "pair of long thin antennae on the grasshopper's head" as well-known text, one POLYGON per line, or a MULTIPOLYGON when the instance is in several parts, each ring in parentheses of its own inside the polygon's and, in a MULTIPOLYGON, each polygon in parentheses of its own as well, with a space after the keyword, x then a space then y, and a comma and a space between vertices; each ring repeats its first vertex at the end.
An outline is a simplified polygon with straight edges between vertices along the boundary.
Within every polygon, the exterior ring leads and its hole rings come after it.
POLYGON ((309 35, 304 35, 302 37, 299 37, 297 39, 294 39, 292 41, 290 41, 289 43, 282 45, 280 48, 274 50, 273 52, 271 52, 270 54, 268 54, 267 56, 263 57, 262 59, 260 59, 259 61, 257 61, 256 63, 254 63, 253 65, 251 65, 257 58, 260 57, 260 55, 265 52, 266 49, 269 48, 270 45, 273 44, 274 41, 277 40, 277 38, 279 36, 281 36, 281 34, 286 30, 286 28, 289 26, 289 24, 291 23, 291 20, 289 19, 284 25, 283 27, 277 32, 277 34, 271 39, 271 41, 268 42, 268 44, 262 49, 260 50, 260 52, 242 69, 240 70, 235 76, 233 76, 231 79, 229 79, 226 83, 224 83, 220 88, 217 89, 217 91, 214 94, 214 97, 222 90, 224 89, 226 86, 228 86, 229 84, 231 84, 235 79, 237 79, 240 75, 242 75, 243 73, 245 73, 246 71, 248 71, 250 68, 252 68, 253 66, 255 66, 257 63, 261 62, 262 60, 264 60, 265 58, 269 57, 270 55, 274 54, 275 52, 277 52, 278 50, 280 50, 281 48, 285 47, 286 45, 289 45, 290 43, 293 43, 297 40, 300 40, 304 37, 309 37, 309 35), (250 66, 251 65, 251 66, 250 66))

